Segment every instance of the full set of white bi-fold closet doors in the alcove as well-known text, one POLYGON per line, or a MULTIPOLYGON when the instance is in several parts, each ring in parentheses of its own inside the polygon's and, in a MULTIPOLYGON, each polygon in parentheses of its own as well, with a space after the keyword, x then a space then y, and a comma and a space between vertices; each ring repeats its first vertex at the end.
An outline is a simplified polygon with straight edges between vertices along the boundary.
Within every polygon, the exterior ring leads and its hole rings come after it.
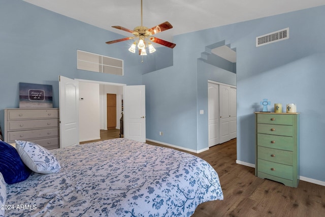
POLYGON ((236 87, 208 82, 209 147, 237 137, 236 87))

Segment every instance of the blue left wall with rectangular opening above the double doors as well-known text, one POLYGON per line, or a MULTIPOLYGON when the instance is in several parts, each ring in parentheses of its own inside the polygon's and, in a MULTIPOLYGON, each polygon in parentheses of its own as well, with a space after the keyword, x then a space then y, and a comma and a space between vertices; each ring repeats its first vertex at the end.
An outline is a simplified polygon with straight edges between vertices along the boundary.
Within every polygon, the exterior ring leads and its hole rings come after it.
POLYGON ((53 86, 58 107, 58 76, 125 84, 142 84, 142 74, 172 65, 172 49, 158 47, 143 58, 128 52, 133 40, 56 14, 20 0, 0 0, 0 126, 5 108, 18 108, 18 83, 53 86), (77 49, 124 60, 124 76, 77 70, 77 49), (125 52, 127 51, 127 52, 125 52), (158 61, 156 61, 158 59, 158 61))

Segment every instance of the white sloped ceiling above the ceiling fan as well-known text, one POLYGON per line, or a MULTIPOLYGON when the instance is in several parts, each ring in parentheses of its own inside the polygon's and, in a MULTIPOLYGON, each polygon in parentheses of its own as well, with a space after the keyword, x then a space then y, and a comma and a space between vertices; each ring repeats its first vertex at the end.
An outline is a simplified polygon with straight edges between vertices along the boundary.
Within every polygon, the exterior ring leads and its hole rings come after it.
MULTIPOLYGON (((124 36, 132 34, 111 26, 141 25, 141 0, 24 1, 124 36)), ((325 0, 143 0, 143 25, 169 21, 173 28, 156 37, 173 42, 174 35, 321 5, 325 0)))

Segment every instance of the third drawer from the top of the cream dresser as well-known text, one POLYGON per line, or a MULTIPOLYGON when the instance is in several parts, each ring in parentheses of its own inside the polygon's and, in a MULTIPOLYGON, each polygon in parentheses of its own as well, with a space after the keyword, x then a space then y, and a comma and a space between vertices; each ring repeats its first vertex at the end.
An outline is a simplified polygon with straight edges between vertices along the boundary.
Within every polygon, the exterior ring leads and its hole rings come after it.
POLYGON ((38 139, 44 137, 57 137, 59 136, 58 128, 42 129, 42 130, 30 130, 30 131, 12 131, 7 134, 8 142, 14 142, 15 140, 38 139))

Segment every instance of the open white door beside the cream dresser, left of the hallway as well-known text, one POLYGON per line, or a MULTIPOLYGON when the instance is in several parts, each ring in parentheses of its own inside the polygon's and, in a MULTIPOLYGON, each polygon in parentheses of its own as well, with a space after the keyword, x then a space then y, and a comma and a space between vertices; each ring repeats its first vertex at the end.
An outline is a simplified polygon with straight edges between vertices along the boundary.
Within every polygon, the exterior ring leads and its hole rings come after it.
POLYGON ((79 82, 59 76, 60 147, 79 144, 79 82))

